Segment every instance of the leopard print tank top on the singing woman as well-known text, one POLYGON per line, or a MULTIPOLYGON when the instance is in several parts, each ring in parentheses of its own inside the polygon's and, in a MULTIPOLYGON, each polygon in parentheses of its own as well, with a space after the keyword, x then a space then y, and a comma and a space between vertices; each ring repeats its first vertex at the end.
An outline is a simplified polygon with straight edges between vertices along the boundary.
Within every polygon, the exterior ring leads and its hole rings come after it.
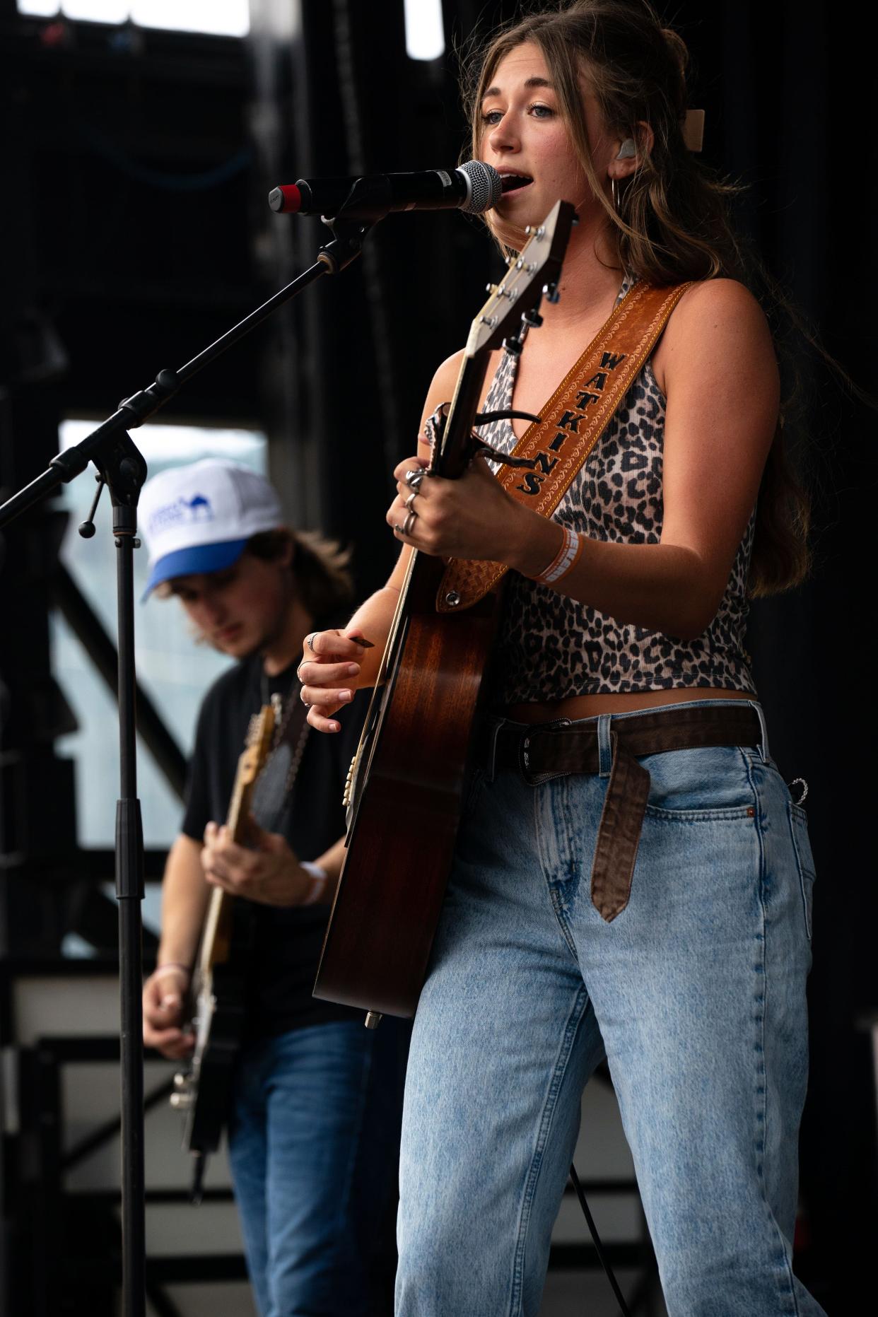
MULTIPOLYGON (((627 278, 619 302, 631 286, 627 278)), ((504 353, 486 411, 512 406, 516 367, 517 358, 504 353)), ((554 519, 592 540, 658 544, 663 432, 665 398, 648 361, 555 508, 554 519)), ((479 433, 500 452, 508 453, 516 444, 508 420, 483 425, 479 433)), ((754 694, 744 648, 754 524, 756 508, 716 616, 695 640, 621 624, 509 572, 491 670, 498 703, 692 686, 754 694)))

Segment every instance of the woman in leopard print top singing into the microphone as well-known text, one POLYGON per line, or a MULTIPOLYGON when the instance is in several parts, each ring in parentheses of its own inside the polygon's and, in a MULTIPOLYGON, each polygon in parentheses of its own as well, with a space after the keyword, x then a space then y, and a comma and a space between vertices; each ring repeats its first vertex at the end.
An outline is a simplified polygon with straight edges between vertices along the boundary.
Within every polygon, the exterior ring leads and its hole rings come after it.
MULTIPOLYGON (((632 286, 692 286, 552 518, 480 458, 412 500, 421 443, 395 471, 388 585, 304 651, 309 722, 337 731, 375 680, 411 548, 511 569, 415 1022, 400 1317, 537 1313, 604 1056, 671 1317, 823 1310, 791 1270, 813 865, 744 648, 748 598, 804 572, 802 507, 771 335, 686 148, 683 67, 641 0, 578 0, 488 45, 473 154, 521 179, 495 238, 520 250, 559 198, 579 223, 559 302, 520 358, 496 353, 486 407, 538 414, 632 286)), ((524 428, 483 437, 509 449, 524 428)))

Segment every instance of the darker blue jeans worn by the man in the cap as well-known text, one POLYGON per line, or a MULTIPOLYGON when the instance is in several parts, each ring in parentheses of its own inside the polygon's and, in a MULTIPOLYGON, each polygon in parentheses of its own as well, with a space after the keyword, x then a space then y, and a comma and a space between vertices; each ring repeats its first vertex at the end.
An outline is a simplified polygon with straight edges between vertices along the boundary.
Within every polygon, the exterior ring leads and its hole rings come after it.
POLYGON ((387 1312, 403 1030, 333 1021, 246 1048, 229 1160, 262 1317, 387 1312), (387 1281, 387 1276, 384 1277, 387 1281))

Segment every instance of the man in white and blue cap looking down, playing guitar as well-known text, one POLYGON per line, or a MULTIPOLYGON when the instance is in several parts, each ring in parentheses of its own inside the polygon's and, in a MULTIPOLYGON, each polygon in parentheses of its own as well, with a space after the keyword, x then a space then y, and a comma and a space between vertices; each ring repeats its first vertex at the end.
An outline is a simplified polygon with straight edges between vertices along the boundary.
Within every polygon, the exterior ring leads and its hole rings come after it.
POLYGON ((308 735, 296 669, 305 637, 349 602, 346 560, 287 529, 269 482, 225 461, 154 477, 141 524, 149 591, 176 595, 200 639, 238 660, 199 714, 158 965, 143 985, 143 1039, 191 1056, 191 972, 211 890, 224 889, 250 927, 228 1130, 259 1312, 390 1310, 380 1295, 394 1266, 401 1034, 382 1038, 363 1029, 362 1013, 311 996, 362 710, 348 712, 338 738, 308 735), (221 820, 247 724, 270 702, 276 739, 254 795, 262 826, 237 846, 221 820))

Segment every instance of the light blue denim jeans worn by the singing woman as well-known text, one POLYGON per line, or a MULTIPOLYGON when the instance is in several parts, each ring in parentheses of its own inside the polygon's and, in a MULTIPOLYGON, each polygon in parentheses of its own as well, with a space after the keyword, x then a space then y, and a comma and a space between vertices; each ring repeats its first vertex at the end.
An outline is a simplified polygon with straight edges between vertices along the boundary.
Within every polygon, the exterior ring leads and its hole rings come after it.
POLYGON ((590 893, 607 777, 470 782, 412 1035, 399 1317, 534 1317, 604 1055, 670 1317, 823 1312, 791 1271, 804 814, 761 748, 640 763, 649 805, 612 923, 590 893))

